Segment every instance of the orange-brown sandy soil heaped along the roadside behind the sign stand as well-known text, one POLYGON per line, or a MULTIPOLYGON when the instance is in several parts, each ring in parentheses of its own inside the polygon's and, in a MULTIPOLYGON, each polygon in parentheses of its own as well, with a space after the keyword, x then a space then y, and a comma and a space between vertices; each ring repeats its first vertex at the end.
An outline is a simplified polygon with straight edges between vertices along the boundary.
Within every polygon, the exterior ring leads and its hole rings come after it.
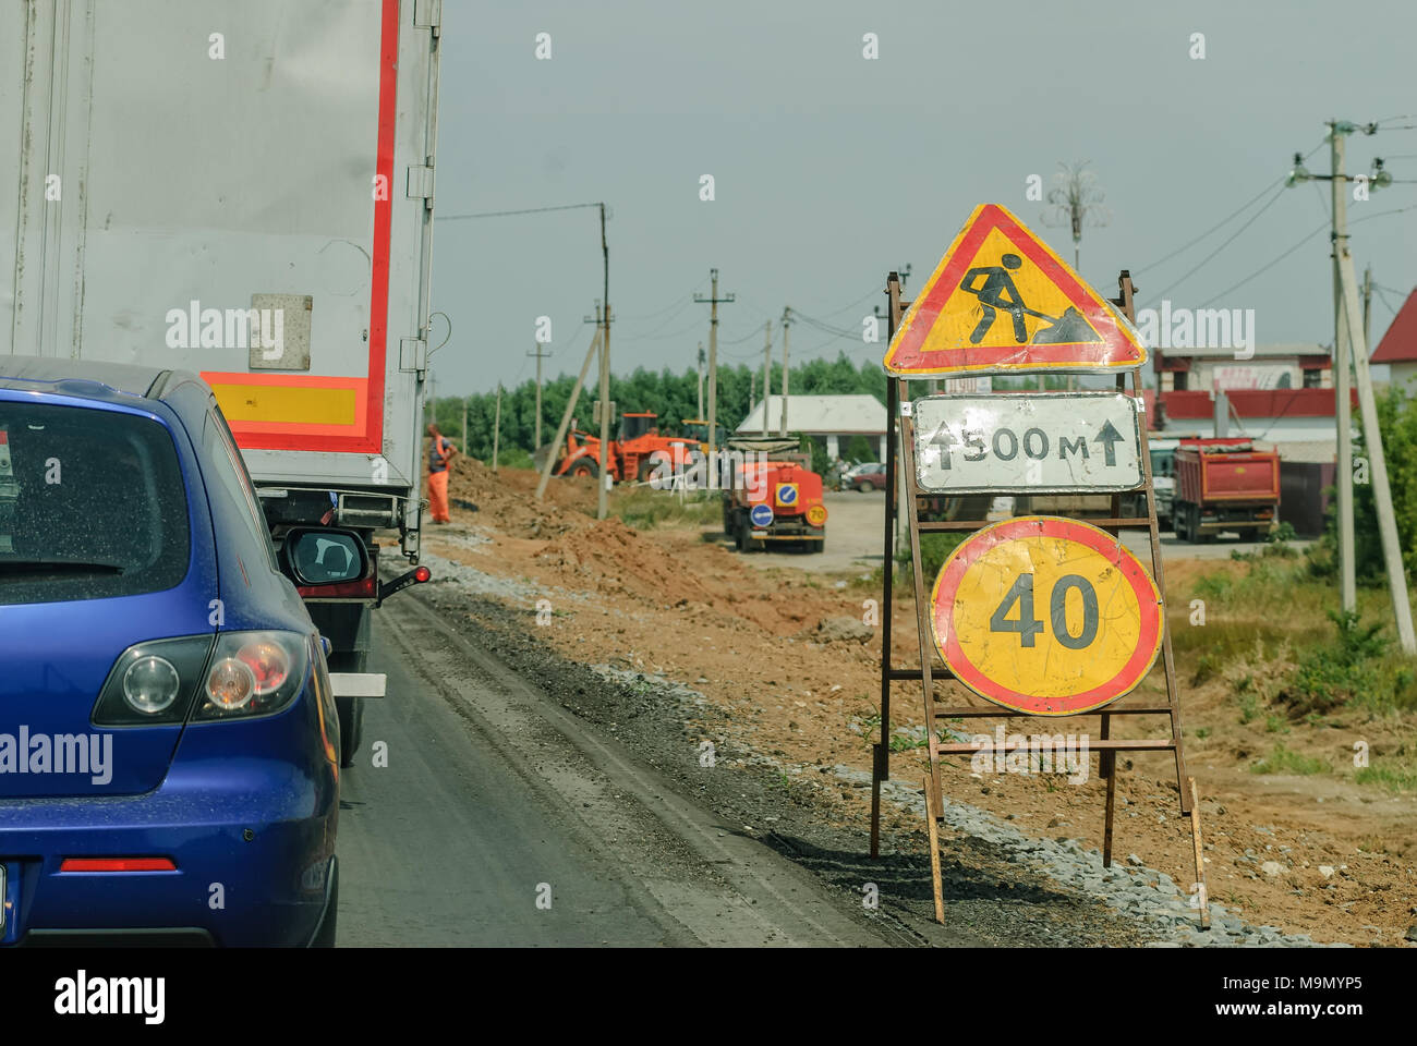
MULTIPOLYGON (((879 734, 881 629, 863 639, 828 639, 818 628, 829 618, 862 621, 880 600, 864 568, 819 571, 815 557, 792 566, 747 566, 744 558, 704 540, 700 527, 636 532, 618 519, 597 523, 595 490, 571 480, 551 485, 546 503, 533 500, 536 476, 503 469, 493 475, 459 459, 453 499, 478 505, 452 510, 453 524, 425 529, 432 551, 495 577, 548 591, 551 614, 544 638, 563 655, 636 670, 662 670, 706 694, 724 713, 735 740, 802 765, 845 764, 870 768, 879 734)), ((1187 628, 1186 601, 1197 571, 1238 568, 1224 563, 1168 563, 1172 629, 1187 628)), ((526 609, 536 601, 523 598, 526 609)), ((918 663, 910 598, 893 608, 893 663, 918 663)), ((1284 744, 1318 754, 1329 774, 1261 775, 1251 765, 1275 743, 1265 716, 1241 723, 1223 679, 1187 686, 1195 665, 1178 662, 1186 754, 1202 795, 1212 900, 1238 907, 1246 921, 1306 933, 1318 941, 1403 943, 1417 923, 1417 797, 1357 785, 1353 737, 1373 753, 1411 744, 1410 719, 1365 720, 1331 716, 1321 727, 1289 724, 1284 744), (1197 734, 1199 731, 1199 734, 1197 734), (1270 870, 1263 866, 1267 862, 1270 870), (1275 870, 1275 865, 1280 870, 1275 870), (1325 869, 1325 870, 1321 870, 1325 869)), ((947 686, 955 686, 952 683, 947 686)), ((1139 696, 1163 690, 1158 668, 1139 696)), ((952 699, 978 703, 958 692, 952 699)), ((918 780, 927 765, 918 687, 893 689, 891 726, 903 750, 891 774, 918 780)), ((1095 724, 1081 720, 1077 730, 1095 724), (1087 724, 1087 726, 1084 726, 1087 724)), ((1162 736, 1161 717, 1129 717, 1129 736, 1162 736), (1155 723, 1146 730, 1141 723, 1155 723)), ((986 721, 989 729, 992 721, 986 721)), ((1056 733, 1056 721, 1049 733, 1056 733)), ((1034 733, 1033 723, 1010 733, 1034 733)), ((1041 733, 1041 729, 1039 730, 1041 733)), ((1119 731, 1114 726, 1114 736, 1119 731)), ((1115 859, 1136 853, 1183 886, 1193 880, 1190 832, 1180 816, 1169 754, 1121 760, 1115 859)), ((1100 846, 1104 785, 1007 774, 979 777, 968 761, 944 770, 945 794, 1005 816, 1039 836, 1067 835, 1100 846)), ((869 789, 843 789, 843 804, 862 825, 869 789), (863 794, 864 792, 864 794, 863 794)), ((900 818, 890 815, 897 823, 900 818)))

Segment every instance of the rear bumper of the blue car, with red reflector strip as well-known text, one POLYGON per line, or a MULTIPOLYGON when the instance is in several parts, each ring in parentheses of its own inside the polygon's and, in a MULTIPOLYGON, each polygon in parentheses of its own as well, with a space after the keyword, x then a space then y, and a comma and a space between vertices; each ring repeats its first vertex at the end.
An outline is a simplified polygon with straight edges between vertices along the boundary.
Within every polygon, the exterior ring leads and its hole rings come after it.
POLYGON ((324 917, 339 788, 289 763, 174 764, 145 795, 0 801, 13 944, 305 945, 324 917), (174 870, 61 872, 65 857, 174 870))

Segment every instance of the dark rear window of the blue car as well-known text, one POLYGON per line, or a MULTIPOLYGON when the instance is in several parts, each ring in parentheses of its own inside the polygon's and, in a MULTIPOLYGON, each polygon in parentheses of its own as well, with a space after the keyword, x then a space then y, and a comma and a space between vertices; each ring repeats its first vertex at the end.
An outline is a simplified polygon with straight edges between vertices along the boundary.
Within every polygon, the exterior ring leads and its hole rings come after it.
POLYGON ((0 605, 162 591, 188 556, 187 490, 160 422, 0 401, 0 605))

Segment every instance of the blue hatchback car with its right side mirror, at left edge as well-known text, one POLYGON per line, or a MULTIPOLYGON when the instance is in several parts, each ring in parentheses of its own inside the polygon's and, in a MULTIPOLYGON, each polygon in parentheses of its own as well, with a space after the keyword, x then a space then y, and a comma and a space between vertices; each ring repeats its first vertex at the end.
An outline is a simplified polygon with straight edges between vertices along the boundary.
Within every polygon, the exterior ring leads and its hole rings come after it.
POLYGON ((0 945, 330 945, 339 716, 211 390, 0 356, 0 945))

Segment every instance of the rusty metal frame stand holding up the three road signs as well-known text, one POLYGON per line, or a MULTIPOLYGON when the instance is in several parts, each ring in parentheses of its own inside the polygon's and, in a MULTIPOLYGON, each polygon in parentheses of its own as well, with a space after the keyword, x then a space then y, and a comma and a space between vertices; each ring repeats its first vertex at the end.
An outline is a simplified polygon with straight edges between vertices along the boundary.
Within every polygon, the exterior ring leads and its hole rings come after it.
MULTIPOLYGON (((1134 317, 1132 279, 1127 269, 1118 278, 1121 298, 1112 299, 1128 319, 1134 317)), ((887 326, 891 337, 910 302, 900 298, 900 278, 891 272, 886 281, 886 295, 890 299, 887 310, 887 326)), ((1127 391, 1127 374, 1118 374, 1118 391, 1127 391)), ((1141 369, 1131 371, 1131 395, 1142 395, 1141 369)), ((930 751, 930 774, 925 777, 925 821, 930 833, 930 867, 935 897, 935 920, 945 921, 944 884, 941 880, 939 860, 939 821, 944 815, 944 795, 939 782, 941 755, 969 755, 976 747, 969 741, 941 741, 935 730, 939 720, 951 719, 1027 719, 1022 712, 1005 709, 996 704, 965 704, 947 707, 935 702, 935 680, 951 679, 952 675, 937 663, 934 642, 930 628, 930 598, 928 587, 921 568, 920 534, 938 532, 973 532, 989 526, 989 520, 942 520, 922 522, 920 519, 920 499, 935 497, 920 489, 915 472, 915 432, 914 418, 910 415, 910 397, 905 388, 905 378, 890 378, 886 394, 887 410, 887 459, 886 459, 886 529, 884 529, 884 608, 883 608, 883 645, 881 645, 881 737, 873 748, 871 760, 871 856, 880 856, 880 789, 881 782, 890 780, 890 685, 897 680, 920 680, 924 693, 925 731, 930 751), (898 465, 898 468, 897 468, 898 465), (893 587, 893 537, 897 523, 897 482, 905 483, 905 512, 910 530, 911 567, 915 591, 915 632, 920 641, 920 668, 897 669, 891 666, 891 587, 893 587)), ((1144 489, 1146 492, 1146 516, 1122 517, 1122 495, 1112 495, 1111 516, 1108 519, 1088 520, 1114 537, 1121 527, 1146 526, 1151 530, 1152 577, 1158 590, 1165 597, 1165 580, 1162 574, 1161 532, 1156 526, 1156 499, 1152 492, 1151 455, 1148 452, 1146 425, 1141 427, 1141 463, 1144 489)), ((1100 716, 1101 726, 1097 740, 1091 741, 1091 748, 1098 751, 1098 775, 1107 781, 1107 805, 1102 828, 1102 866, 1112 865, 1112 823, 1114 802, 1117 794, 1117 753, 1119 751, 1169 751, 1176 760, 1176 788, 1180 792, 1180 812, 1190 819, 1192 843, 1195 849, 1196 886, 1199 894, 1200 926, 1210 927, 1210 907, 1206 894, 1206 867, 1200 842, 1200 811, 1196 798, 1196 781, 1186 772, 1186 757, 1182 750, 1180 729, 1180 697, 1176 687, 1176 662, 1170 648, 1170 626, 1162 614, 1162 665, 1166 672, 1166 703, 1121 704, 1112 703, 1098 712, 1078 713, 1100 716), (1152 738, 1122 738, 1112 737, 1114 716, 1168 716, 1170 720, 1170 737, 1165 740, 1152 738)), ((1121 700, 1127 700, 1125 697, 1121 700)), ((1195 896, 1193 894, 1193 896, 1195 896)))

